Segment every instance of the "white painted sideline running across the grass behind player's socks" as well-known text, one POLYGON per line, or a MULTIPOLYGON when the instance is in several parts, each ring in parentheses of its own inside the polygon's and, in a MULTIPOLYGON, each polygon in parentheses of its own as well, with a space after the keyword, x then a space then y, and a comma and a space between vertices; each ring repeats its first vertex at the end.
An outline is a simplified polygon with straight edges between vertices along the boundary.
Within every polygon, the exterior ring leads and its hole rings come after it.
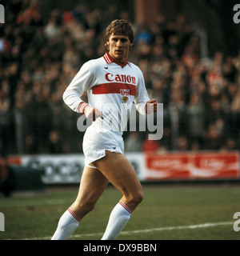
MULTIPOLYGON (((165 230, 194 230, 194 229, 204 228, 204 227, 233 225, 233 223, 234 222, 214 222, 214 223, 203 223, 203 224, 190 225, 190 226, 166 226, 166 227, 158 227, 155 229, 122 231, 120 234, 139 234, 139 233, 150 233, 150 232, 165 231, 165 230)), ((102 233, 74 234, 74 235, 71 235, 70 238, 94 237, 96 235, 102 235, 102 233)), ((22 238, 22 240, 50 240, 50 238, 51 237, 22 238)))

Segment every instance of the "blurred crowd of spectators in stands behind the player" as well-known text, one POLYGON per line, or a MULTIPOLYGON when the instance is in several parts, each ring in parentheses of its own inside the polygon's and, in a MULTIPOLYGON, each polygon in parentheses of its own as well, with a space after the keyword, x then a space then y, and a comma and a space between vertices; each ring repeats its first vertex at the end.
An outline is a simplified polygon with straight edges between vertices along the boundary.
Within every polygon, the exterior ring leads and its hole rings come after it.
POLYGON ((62 93, 84 62, 105 54, 103 31, 116 18, 135 30, 130 61, 140 67, 151 98, 164 104, 164 133, 126 132, 126 151, 239 150, 240 52, 202 58, 194 26, 178 15, 137 24, 126 10, 78 4, 51 11, 41 1, 12 0, 0 24, 0 146, 3 154, 82 152, 80 114, 62 93))

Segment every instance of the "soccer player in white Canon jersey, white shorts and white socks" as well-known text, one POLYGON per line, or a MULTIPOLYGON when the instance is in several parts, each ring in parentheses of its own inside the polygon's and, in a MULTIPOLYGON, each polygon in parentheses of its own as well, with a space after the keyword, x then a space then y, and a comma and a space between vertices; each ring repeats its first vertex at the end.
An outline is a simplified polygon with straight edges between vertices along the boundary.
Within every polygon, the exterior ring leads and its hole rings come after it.
POLYGON ((122 198, 110 214, 102 240, 117 238, 142 202, 142 186, 124 156, 122 131, 133 102, 141 114, 157 111, 157 102, 148 98, 142 71, 128 61, 134 43, 130 23, 111 22, 105 36, 106 54, 86 62, 63 94, 67 106, 93 122, 83 138, 85 167, 78 196, 62 214, 52 240, 73 234, 82 218, 94 209, 108 182, 122 192, 122 198), (85 91, 88 103, 81 98, 85 91))

